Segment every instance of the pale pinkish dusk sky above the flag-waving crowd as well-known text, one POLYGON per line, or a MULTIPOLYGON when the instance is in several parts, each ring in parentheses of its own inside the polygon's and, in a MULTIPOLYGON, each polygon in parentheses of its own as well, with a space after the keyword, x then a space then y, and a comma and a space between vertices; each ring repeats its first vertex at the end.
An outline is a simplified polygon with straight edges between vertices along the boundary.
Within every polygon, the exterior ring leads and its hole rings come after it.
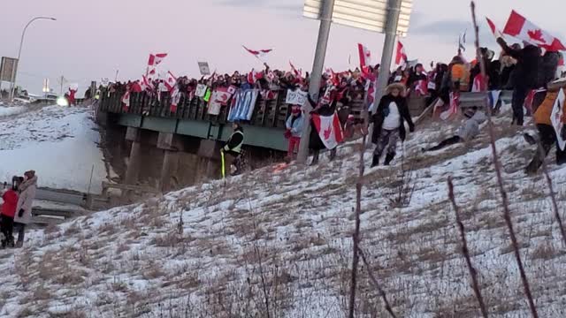
MULTIPOLYGON (((566 40, 562 30, 563 0, 477 0, 482 42, 498 51, 485 16, 501 29, 512 9, 566 40)), ((65 76, 80 85, 90 80, 139 79, 150 52, 166 52, 163 70, 198 76, 197 61, 207 61, 218 72, 249 71, 261 63, 245 52, 274 49, 267 57, 273 67, 288 68, 292 60, 305 71, 312 68, 318 21, 302 17, 303 0, 5 0, 0 13, 0 55, 16 57, 19 37, 34 16, 22 50, 19 84, 32 93, 50 78, 65 76)), ((455 55, 458 34, 468 30, 467 56, 473 55, 470 2, 413 0, 409 36, 404 42, 409 59, 448 62, 455 55)), ((326 55, 327 67, 348 69, 358 64, 356 43, 371 49, 379 63, 383 35, 334 25, 326 55)), ((3 87, 8 84, 4 83, 3 87)), ((65 88, 66 89, 66 88, 65 88)))

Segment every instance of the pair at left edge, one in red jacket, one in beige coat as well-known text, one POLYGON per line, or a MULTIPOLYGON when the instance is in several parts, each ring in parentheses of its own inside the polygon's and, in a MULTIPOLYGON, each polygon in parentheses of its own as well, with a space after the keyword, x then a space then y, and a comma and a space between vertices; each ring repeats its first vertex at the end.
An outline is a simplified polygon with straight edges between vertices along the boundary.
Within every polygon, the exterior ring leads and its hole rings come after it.
POLYGON ((23 177, 14 176, 8 188, 4 184, 0 219, 2 248, 23 246, 26 227, 32 219, 36 190, 37 176, 34 170, 26 171, 23 177), (17 240, 13 237, 14 231, 18 233, 17 240))

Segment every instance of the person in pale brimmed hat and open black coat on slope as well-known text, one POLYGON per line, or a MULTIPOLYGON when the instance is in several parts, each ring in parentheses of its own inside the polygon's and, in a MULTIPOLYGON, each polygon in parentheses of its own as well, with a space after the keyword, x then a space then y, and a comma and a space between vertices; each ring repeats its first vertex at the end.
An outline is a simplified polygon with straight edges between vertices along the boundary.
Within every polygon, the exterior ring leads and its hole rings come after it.
POLYGON ((371 167, 379 165, 379 158, 387 149, 385 165, 393 161, 397 149, 397 141, 405 141, 405 121, 409 131, 415 131, 415 125, 409 114, 409 106, 405 97, 405 87, 394 83, 386 88, 386 95, 379 101, 378 110, 372 116, 373 134, 371 142, 376 145, 371 167))

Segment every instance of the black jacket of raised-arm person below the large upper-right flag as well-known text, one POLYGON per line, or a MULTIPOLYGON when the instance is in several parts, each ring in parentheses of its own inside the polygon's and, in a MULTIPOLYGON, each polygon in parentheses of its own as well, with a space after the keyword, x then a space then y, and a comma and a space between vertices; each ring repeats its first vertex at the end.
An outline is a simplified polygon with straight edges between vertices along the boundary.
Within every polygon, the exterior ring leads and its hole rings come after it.
POLYGON ((501 49, 517 60, 515 71, 511 74, 515 87, 537 88, 539 82, 539 62, 541 50, 534 45, 527 45, 524 49, 509 48, 505 40, 497 39, 501 49))

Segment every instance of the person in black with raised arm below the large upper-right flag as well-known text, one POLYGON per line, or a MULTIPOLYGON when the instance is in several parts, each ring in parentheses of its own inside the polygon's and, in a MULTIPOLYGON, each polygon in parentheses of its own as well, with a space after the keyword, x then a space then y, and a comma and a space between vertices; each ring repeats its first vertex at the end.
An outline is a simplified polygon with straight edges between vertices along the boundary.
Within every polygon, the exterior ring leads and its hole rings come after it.
POLYGON ((513 90, 513 123, 523 125, 524 100, 529 94, 529 90, 537 88, 539 78, 539 59, 541 50, 539 47, 530 43, 524 43, 523 49, 510 48, 507 42, 498 38, 497 42, 501 45, 503 52, 516 59, 516 67, 513 71, 512 79, 515 88, 513 90))

